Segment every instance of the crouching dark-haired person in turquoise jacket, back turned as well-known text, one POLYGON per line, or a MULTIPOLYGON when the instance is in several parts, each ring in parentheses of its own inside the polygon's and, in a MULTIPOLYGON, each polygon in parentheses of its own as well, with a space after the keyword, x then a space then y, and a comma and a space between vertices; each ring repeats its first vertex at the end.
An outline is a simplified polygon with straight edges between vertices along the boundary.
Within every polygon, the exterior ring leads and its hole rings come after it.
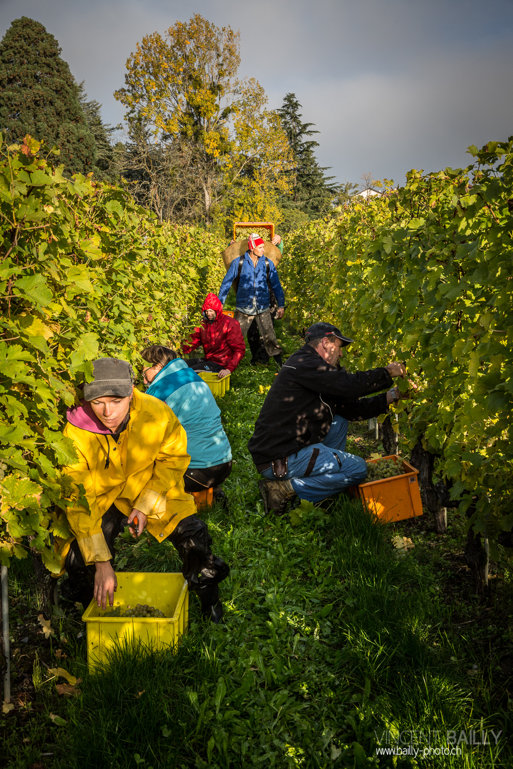
POLYGON ((214 498, 224 498, 220 485, 232 472, 232 448, 208 384, 168 347, 152 345, 141 356, 149 364, 143 369, 146 394, 168 404, 187 434, 191 463, 184 475, 185 491, 213 487, 214 498))

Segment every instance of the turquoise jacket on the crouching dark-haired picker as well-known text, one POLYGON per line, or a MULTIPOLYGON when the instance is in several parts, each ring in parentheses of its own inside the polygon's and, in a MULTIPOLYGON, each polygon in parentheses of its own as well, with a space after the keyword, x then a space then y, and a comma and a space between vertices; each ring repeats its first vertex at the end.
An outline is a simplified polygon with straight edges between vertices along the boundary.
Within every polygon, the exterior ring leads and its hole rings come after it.
POLYGON ((146 390, 165 401, 187 433, 190 468, 212 468, 232 459, 232 448, 221 424, 221 411, 208 387, 182 358, 170 361, 146 390))

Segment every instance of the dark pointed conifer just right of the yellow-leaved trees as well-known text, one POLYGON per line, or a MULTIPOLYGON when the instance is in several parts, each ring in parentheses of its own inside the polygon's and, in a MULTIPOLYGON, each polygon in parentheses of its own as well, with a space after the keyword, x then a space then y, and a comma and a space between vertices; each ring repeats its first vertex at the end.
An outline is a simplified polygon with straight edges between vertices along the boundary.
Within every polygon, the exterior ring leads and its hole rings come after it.
POLYGON ((293 192, 288 201, 283 201, 283 208, 284 211, 291 209, 292 218, 298 221, 325 214, 338 192, 338 185, 329 183, 335 177, 325 176, 324 172, 329 169, 321 168, 315 158, 314 147, 318 147, 318 141, 307 138, 319 131, 312 130, 315 123, 301 122, 300 109, 301 104, 292 93, 285 96, 282 107, 278 109, 294 158, 294 168, 289 171, 293 192))

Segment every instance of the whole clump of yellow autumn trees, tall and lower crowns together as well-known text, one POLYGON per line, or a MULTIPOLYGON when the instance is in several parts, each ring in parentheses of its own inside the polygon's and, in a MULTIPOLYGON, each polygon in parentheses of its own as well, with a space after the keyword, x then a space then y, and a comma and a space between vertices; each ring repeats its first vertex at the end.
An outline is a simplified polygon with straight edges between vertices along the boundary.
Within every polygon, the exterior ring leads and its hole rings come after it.
MULTIPOLYGON (((278 115, 265 108, 263 88, 254 79, 237 78, 239 38, 239 32, 218 28, 199 14, 176 22, 165 35, 146 35, 127 60, 125 88, 115 92, 127 108, 128 161, 138 131, 139 159, 142 152, 155 156, 155 151, 171 158, 166 178, 175 198, 177 184, 187 198, 173 210, 208 225, 213 218, 222 221, 227 208, 230 215, 266 211, 265 200, 275 198, 275 188, 286 188, 279 179, 290 162, 286 137, 278 115)), ((158 167, 143 165, 146 175, 158 167)), ((152 199, 148 205, 154 205, 152 199)), ((271 211, 278 215, 272 205, 271 211)))

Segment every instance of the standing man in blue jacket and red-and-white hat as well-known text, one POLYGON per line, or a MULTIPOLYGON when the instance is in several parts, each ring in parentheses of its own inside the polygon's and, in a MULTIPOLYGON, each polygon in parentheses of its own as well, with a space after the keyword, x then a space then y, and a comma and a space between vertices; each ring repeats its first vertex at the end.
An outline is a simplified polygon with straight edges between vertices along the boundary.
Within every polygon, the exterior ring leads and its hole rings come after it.
MULTIPOLYGON (((233 281, 236 281, 238 277, 239 261, 239 259, 232 261, 222 281, 218 294, 222 305, 225 304, 233 281)), ((248 333, 248 328, 252 322, 257 322, 258 331, 260 331, 269 358, 274 358, 278 368, 281 368, 281 353, 283 351, 276 341, 275 329, 272 325, 268 283, 271 285, 278 302, 276 318, 283 318, 285 296, 278 272, 271 259, 264 256, 264 241, 256 232, 253 232, 248 239, 248 251, 244 255, 238 286, 234 286, 237 293, 235 319, 241 325, 243 337, 248 333)))

